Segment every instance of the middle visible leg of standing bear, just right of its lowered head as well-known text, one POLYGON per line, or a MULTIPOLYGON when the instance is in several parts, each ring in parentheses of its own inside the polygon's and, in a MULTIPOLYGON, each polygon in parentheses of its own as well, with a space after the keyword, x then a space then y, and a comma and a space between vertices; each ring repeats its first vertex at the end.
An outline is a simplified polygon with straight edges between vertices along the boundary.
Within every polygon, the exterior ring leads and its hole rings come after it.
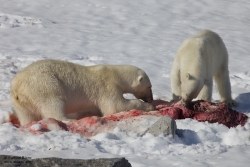
POLYGON ((204 86, 202 87, 198 95, 198 100, 211 101, 212 93, 213 93, 213 79, 210 78, 204 81, 204 86))

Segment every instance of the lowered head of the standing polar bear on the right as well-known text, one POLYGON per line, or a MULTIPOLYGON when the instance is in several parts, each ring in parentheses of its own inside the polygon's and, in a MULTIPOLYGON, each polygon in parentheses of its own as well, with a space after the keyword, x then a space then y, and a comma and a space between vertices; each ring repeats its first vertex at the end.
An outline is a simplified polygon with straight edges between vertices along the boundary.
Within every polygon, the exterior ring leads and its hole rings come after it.
POLYGON ((198 96, 203 85, 203 78, 194 77, 189 73, 186 73, 185 76, 181 78, 181 98, 185 105, 188 105, 188 103, 198 96))

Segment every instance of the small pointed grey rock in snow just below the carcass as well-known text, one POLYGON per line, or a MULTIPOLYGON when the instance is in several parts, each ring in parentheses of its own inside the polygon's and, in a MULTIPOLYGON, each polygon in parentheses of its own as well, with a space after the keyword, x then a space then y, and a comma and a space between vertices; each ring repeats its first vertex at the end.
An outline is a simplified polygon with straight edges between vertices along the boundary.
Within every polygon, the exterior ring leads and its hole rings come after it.
MULTIPOLYGON (((165 115, 164 117, 161 117, 158 121, 156 121, 151 127, 149 127, 146 132, 144 132, 143 135, 146 133, 151 133, 154 136, 159 136, 160 134, 164 135, 175 135, 177 126, 174 119, 172 119, 169 115, 165 115)), ((142 135, 142 136, 143 136, 142 135)))

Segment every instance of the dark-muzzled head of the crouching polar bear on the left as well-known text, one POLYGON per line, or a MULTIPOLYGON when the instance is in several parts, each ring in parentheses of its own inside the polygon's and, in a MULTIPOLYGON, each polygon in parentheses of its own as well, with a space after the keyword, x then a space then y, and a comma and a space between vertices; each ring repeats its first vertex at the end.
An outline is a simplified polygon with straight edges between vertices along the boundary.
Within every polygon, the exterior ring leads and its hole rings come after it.
POLYGON ((132 89, 132 93, 137 99, 141 99, 145 102, 151 102, 153 100, 152 85, 149 77, 143 70, 138 71, 137 77, 134 78, 132 89))

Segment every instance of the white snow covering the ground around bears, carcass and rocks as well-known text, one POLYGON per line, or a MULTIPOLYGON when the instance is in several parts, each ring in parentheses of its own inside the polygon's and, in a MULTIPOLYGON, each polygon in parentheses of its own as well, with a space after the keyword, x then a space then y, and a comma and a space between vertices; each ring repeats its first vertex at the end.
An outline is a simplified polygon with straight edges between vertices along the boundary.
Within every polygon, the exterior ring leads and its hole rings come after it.
MULTIPOLYGON (((228 129, 177 120, 178 136, 136 129, 90 140, 62 130, 34 135, 4 123, 16 72, 40 59, 81 65, 132 64, 147 72, 154 98, 170 100, 169 72, 181 42, 201 29, 217 32, 229 52, 235 109, 250 116, 250 3, 247 0, 0 0, 0 154, 63 158, 125 157, 133 167, 248 166, 250 121, 228 129)), ((213 100, 218 101, 216 86, 213 100)), ((34 125, 33 128, 40 128, 34 125)))

